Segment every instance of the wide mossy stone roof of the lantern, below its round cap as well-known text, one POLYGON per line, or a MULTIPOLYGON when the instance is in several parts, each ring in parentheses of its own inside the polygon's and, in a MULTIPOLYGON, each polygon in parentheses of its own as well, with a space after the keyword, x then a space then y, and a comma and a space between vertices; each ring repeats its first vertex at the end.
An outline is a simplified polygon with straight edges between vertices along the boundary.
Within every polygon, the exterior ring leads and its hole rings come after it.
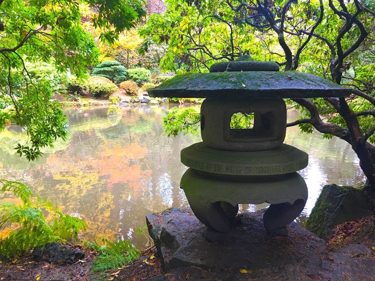
POLYGON ((230 100, 348 96, 344 88, 319 76, 291 71, 233 71, 175 76, 148 90, 150 96, 230 100))

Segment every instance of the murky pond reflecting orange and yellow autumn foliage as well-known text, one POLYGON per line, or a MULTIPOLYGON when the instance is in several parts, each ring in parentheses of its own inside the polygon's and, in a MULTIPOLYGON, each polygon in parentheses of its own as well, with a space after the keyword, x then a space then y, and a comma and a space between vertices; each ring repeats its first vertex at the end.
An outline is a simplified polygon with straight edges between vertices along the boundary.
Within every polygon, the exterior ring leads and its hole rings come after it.
MULTIPOLYGON (((25 134, 15 125, 7 126, 0 133, 0 178, 24 182, 63 212, 82 217, 88 224, 82 234, 86 240, 125 238, 143 248, 147 237, 135 232, 145 225, 146 214, 188 205, 179 188, 186 170, 179 152, 201 141, 199 135, 163 134, 162 118, 170 107, 126 106, 118 119, 108 119, 106 107, 66 109, 67 140, 44 149, 34 162, 15 154, 13 147, 25 134)), ((288 118, 296 116, 298 112, 288 111, 288 118)), ((358 158, 341 139, 301 134, 291 127, 284 142, 309 154, 308 166, 299 171, 309 193, 297 219, 302 224, 324 184, 357 186, 364 180, 358 158)), ((0 195, 0 202, 8 199, 0 195)), ((266 205, 240 205, 240 211, 266 205)))

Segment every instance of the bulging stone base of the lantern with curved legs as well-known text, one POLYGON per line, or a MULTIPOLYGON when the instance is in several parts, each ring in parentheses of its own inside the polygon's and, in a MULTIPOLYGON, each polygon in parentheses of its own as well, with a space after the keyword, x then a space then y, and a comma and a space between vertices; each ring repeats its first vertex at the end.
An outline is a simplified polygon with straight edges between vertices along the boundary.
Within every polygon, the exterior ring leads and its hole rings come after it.
POLYGON ((204 236, 209 241, 225 236, 240 203, 270 203, 263 215, 264 228, 273 235, 286 235, 285 226, 300 214, 307 200, 306 184, 297 172, 233 177, 189 168, 180 186, 195 216, 207 226, 204 236))

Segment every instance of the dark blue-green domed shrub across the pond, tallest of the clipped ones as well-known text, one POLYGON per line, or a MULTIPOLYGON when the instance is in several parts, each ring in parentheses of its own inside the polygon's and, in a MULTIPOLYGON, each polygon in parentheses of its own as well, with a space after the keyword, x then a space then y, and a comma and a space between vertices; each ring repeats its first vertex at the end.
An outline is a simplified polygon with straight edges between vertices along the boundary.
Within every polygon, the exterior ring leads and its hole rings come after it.
POLYGON ((119 83, 126 80, 127 70, 116 60, 105 60, 96 65, 91 74, 108 78, 113 83, 119 83))

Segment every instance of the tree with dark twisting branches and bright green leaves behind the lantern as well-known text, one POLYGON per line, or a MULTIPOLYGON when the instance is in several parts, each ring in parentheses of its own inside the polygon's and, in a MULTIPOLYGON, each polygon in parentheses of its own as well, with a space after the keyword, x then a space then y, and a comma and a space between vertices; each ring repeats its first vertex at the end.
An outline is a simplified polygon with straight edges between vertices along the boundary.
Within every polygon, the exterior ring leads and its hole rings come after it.
POLYGON ((359 0, 169 1, 166 13, 151 16, 141 35, 169 41, 160 64, 165 68, 179 60, 185 70, 206 71, 215 60, 249 54, 350 86, 346 98, 293 99, 303 116, 287 125, 350 143, 374 196, 375 87, 368 71, 375 67, 374 8, 359 0))

